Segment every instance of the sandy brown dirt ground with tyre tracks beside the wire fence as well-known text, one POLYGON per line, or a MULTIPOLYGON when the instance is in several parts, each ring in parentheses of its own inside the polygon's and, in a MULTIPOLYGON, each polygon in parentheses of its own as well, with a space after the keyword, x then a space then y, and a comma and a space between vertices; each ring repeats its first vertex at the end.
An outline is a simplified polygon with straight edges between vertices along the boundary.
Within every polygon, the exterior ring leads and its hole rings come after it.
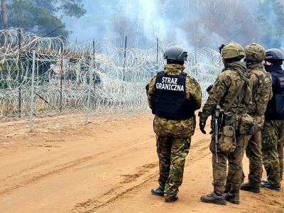
POLYGON ((284 212, 284 189, 241 191, 240 204, 200 201, 213 190, 209 124, 207 135, 197 127, 192 138, 179 200, 151 195, 158 186, 152 125, 152 114, 88 123, 82 114, 48 116, 33 119, 33 131, 29 119, 2 120, 0 212, 284 212))

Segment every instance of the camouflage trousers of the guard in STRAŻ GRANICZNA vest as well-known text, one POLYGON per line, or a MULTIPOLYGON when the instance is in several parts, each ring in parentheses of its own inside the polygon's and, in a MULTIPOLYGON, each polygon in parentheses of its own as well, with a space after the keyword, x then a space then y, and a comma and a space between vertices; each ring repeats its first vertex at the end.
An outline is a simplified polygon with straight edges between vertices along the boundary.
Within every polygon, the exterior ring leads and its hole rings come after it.
POLYGON ((178 187, 182 185, 185 157, 190 150, 191 136, 156 136, 156 141, 160 169, 158 183, 164 189, 165 199, 171 199, 178 194, 178 187))

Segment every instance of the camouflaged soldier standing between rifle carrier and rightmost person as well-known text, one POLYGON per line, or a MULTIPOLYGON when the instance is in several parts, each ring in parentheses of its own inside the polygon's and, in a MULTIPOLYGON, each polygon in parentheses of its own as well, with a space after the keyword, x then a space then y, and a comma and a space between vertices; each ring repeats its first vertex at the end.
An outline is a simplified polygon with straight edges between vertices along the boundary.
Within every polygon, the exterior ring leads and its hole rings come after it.
POLYGON ((246 46, 245 53, 246 70, 253 83, 252 104, 249 104, 247 109, 248 114, 258 123, 259 131, 253 133, 246 147, 246 156, 249 158, 249 182, 242 184, 241 190, 259 193, 262 176, 261 126, 264 124, 268 101, 272 98, 272 82, 271 75, 263 68, 262 62, 266 58, 263 46, 252 43, 246 46))

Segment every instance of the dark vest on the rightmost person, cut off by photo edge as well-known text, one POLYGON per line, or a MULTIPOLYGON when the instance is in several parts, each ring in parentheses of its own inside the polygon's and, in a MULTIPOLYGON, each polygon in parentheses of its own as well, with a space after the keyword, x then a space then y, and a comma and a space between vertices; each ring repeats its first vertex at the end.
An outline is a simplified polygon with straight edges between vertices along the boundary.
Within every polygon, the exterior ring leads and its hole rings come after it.
POLYGON ((284 120, 284 72, 275 70, 271 72, 273 77, 273 97, 266 109, 266 119, 284 120))

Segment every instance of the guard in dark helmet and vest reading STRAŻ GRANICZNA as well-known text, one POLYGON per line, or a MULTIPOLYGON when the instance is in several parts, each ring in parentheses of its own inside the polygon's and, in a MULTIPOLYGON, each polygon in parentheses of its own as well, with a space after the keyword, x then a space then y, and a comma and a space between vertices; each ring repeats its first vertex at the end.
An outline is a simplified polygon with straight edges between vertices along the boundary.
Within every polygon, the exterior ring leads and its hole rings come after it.
POLYGON ((151 193, 163 196, 165 202, 174 202, 178 200, 185 157, 195 133, 195 110, 201 107, 202 89, 195 78, 183 72, 185 48, 170 46, 164 58, 164 71, 158 72, 146 86, 148 106, 155 114, 153 130, 160 170, 158 187, 151 193))

